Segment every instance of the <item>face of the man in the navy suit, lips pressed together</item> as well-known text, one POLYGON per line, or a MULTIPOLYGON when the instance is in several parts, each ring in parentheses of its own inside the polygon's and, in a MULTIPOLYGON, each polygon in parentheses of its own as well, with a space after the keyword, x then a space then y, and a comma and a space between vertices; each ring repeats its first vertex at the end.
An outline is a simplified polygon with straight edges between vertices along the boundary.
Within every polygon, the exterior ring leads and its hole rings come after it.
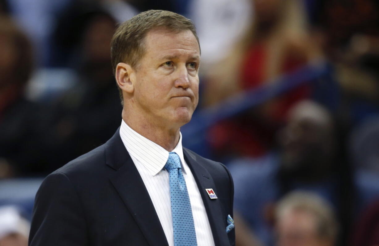
POLYGON ((180 127, 198 103, 200 49, 190 30, 152 30, 145 54, 135 68, 133 109, 165 128, 180 127))

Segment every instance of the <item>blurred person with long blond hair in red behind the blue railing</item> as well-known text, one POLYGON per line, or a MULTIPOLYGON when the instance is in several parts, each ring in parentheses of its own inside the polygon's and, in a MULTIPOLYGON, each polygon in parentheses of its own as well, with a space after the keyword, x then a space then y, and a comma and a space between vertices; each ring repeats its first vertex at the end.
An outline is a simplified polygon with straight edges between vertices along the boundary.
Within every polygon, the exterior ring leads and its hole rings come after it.
MULTIPOLYGON (((302 1, 254 0, 254 3, 254 36, 240 71, 244 90, 272 83, 276 77, 291 73, 321 56, 310 39, 302 1)), ((307 96, 309 88, 296 88, 265 105, 260 114, 271 121, 283 121, 287 110, 307 96)))

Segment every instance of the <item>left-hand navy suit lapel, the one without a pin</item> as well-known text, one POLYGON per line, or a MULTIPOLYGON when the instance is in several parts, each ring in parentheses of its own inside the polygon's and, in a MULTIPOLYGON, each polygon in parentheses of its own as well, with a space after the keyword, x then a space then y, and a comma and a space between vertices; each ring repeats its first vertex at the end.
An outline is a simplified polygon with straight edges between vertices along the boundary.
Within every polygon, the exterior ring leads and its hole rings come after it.
POLYGON ((106 143, 106 164, 117 172, 110 178, 122 201, 150 245, 168 246, 158 215, 132 158, 121 140, 119 129, 106 143))

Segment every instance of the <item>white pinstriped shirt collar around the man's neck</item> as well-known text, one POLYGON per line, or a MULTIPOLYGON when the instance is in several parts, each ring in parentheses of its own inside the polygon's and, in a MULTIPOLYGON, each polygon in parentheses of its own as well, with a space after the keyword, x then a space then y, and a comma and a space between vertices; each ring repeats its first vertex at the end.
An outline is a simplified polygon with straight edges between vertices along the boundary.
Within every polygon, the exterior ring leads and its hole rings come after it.
MULTIPOLYGON (((171 152, 175 152, 179 155, 180 161, 182 162, 182 172, 185 173, 185 170, 183 169, 184 156, 182 133, 179 133, 180 137, 178 144, 171 152)), ((129 155, 133 156, 133 158, 137 159, 144 167, 146 167, 152 176, 156 175, 163 169, 168 160, 169 151, 134 131, 124 120, 121 121, 120 137, 129 155)))

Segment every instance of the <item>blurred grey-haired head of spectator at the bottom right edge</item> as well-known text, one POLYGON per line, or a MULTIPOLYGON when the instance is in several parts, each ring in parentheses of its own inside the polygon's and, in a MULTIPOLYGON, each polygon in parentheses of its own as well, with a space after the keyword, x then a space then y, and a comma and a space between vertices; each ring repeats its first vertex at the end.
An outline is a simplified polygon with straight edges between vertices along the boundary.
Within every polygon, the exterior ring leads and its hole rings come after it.
POLYGON ((293 192, 276 208, 277 246, 333 246, 337 222, 332 208, 320 197, 293 192))

